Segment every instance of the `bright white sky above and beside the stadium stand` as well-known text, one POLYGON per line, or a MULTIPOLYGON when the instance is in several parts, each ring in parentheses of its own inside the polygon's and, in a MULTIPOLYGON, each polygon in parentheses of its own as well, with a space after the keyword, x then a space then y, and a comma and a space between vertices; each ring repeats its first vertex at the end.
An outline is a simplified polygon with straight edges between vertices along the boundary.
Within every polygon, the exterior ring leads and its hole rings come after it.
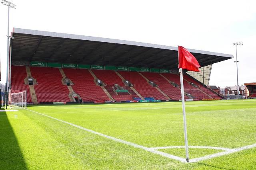
MULTIPOLYGON (((210 85, 256 82, 255 0, 12 0, 12 27, 154 43, 182 45, 234 55, 213 64, 210 85)), ((6 81, 8 8, 0 4, 0 57, 6 81)))

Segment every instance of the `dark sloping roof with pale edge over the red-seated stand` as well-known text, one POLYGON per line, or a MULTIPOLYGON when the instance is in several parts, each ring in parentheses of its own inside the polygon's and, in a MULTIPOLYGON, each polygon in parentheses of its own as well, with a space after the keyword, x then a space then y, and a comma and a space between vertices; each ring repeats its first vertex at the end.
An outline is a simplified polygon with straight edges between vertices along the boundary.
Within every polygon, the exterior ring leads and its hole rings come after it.
MULTIPOLYGON (((20 28, 13 28, 12 36, 12 61, 178 68, 177 47, 20 28)), ((201 66, 233 58, 188 50, 201 66)))

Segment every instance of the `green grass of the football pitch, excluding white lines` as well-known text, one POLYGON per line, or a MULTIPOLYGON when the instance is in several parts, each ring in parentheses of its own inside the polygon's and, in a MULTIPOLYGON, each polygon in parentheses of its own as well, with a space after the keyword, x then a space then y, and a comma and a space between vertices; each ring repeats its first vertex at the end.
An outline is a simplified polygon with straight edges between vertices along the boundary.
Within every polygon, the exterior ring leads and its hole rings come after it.
MULTIPOLYGON (((0 169, 255 169, 256 148, 181 163, 39 115, 145 147, 183 146, 181 102, 29 106, 0 112, 0 169)), ((190 146, 256 143, 256 100, 186 102, 190 146)), ((222 152, 189 149, 190 158, 222 152)), ((184 149, 159 151, 185 157, 184 149)))

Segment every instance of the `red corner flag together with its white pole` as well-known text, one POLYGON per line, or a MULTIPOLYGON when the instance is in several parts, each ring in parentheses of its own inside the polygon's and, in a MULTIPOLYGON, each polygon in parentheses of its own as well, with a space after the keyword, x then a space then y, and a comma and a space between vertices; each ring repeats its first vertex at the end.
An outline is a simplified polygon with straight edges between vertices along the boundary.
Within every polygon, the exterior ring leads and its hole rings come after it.
POLYGON ((185 99, 184 99, 184 85, 183 85, 183 71, 182 68, 189 71, 200 71, 200 67, 196 58, 184 47, 178 46, 178 58, 179 58, 179 72, 180 72, 180 88, 181 88, 181 99, 182 99, 182 111, 183 111, 183 124, 184 124, 184 137, 185 137, 185 148, 186 148, 186 161, 189 162, 188 157, 188 135, 187 135, 187 123, 186 123, 186 110, 185 110, 185 99))

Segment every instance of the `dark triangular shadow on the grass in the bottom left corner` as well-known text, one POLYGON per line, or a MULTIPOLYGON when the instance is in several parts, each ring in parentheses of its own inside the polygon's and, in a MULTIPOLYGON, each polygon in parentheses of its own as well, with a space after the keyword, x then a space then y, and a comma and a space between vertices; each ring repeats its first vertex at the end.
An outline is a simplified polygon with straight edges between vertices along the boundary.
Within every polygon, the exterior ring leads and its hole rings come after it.
POLYGON ((5 111, 0 112, 0 169, 28 169, 5 111))

